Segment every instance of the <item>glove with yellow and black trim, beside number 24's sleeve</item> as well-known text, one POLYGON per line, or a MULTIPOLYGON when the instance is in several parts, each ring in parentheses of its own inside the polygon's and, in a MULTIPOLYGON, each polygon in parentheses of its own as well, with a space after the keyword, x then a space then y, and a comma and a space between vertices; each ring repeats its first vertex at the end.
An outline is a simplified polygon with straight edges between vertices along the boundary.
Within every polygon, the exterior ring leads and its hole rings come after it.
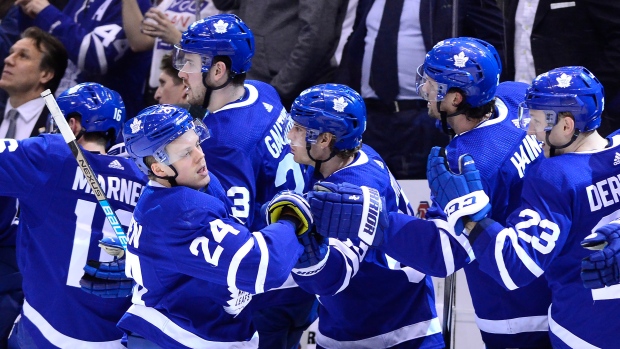
POLYGON ((297 235, 302 235, 312 229, 314 224, 310 205, 300 194, 292 190, 284 190, 267 204, 265 216, 267 224, 275 223, 284 216, 295 222, 297 235))

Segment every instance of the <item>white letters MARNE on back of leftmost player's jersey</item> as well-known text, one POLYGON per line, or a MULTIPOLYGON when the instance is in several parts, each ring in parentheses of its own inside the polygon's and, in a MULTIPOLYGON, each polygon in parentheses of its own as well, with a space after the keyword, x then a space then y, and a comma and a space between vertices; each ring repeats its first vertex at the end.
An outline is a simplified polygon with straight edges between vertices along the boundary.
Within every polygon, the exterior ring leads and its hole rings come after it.
MULTIPOLYGON (((95 181, 94 174, 87 171, 85 168, 84 170, 88 173, 88 177, 86 177, 79 167, 76 167, 75 169, 75 178, 73 179, 73 187, 71 189, 84 191, 86 194, 90 194, 92 190, 89 183, 93 183, 93 181, 95 181)), ((97 181, 99 182, 101 190, 105 192, 105 196, 108 199, 122 201, 134 207, 138 203, 138 197, 140 197, 143 189, 143 186, 140 183, 114 176, 104 178, 99 175, 97 176, 97 181)))

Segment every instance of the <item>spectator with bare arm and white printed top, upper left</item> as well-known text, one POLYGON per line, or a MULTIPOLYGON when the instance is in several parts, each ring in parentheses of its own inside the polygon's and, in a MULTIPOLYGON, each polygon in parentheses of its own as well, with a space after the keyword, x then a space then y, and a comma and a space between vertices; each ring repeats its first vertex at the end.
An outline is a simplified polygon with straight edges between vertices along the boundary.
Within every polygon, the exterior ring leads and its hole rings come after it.
POLYGON ((181 34, 190 24, 220 11, 209 0, 163 0, 142 15, 137 0, 122 1, 123 29, 129 46, 134 52, 153 52, 146 93, 148 102, 159 86, 158 79, 162 69, 160 62, 164 55, 172 52, 173 46, 181 41, 181 34), (200 3, 200 11, 196 11, 197 3, 200 3), (200 13, 200 18, 196 18, 197 12, 200 13))

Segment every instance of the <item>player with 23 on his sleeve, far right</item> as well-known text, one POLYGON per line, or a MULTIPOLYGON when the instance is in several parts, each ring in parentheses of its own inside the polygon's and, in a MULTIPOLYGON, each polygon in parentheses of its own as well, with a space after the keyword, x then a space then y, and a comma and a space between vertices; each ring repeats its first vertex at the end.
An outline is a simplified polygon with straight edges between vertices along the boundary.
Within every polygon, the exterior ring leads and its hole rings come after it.
POLYGON ((525 100, 531 119, 524 116, 521 125, 543 142, 549 158, 529 170, 522 204, 505 224, 491 218, 467 224, 481 270, 506 289, 518 289, 544 274, 552 290, 554 348, 617 346, 620 324, 611 321, 601 328, 599 321, 620 312, 619 287, 589 290, 579 277, 582 259, 589 254, 580 242, 620 217, 613 166, 620 139, 605 139, 596 131, 603 106, 603 86, 583 67, 557 68, 536 77, 525 100))

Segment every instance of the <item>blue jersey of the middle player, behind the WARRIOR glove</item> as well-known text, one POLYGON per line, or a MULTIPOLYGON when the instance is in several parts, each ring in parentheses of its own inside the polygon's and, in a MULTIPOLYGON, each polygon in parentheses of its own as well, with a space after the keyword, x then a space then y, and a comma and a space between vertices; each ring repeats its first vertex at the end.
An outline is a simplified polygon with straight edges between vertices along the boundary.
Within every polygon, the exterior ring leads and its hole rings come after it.
MULTIPOLYGON (((355 160, 325 181, 379 190, 387 210, 412 214, 400 186, 381 157, 363 145, 355 160)), ((443 348, 431 278, 359 240, 329 240, 325 265, 293 269, 293 278, 319 295, 317 343, 325 348, 443 348), (380 265, 377 265, 380 264, 380 265)))

